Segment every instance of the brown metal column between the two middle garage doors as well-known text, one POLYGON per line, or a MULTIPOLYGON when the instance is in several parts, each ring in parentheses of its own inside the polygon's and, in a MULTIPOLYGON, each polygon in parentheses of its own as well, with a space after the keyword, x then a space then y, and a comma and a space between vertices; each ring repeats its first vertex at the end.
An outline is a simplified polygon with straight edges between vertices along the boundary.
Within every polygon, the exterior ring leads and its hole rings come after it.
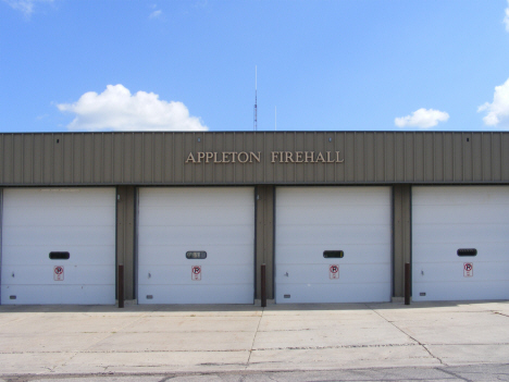
POLYGON ((261 264, 265 264, 266 298, 274 298, 274 186, 256 187, 257 237, 256 237, 256 298, 261 298, 261 264))

